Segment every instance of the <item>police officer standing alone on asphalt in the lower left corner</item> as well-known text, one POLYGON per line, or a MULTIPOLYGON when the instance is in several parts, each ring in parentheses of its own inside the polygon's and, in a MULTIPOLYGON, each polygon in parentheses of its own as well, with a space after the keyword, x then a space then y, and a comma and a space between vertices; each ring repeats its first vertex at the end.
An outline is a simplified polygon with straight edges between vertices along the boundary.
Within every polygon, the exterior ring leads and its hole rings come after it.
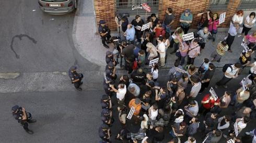
POLYGON ((28 123, 34 123, 37 122, 35 119, 31 119, 31 114, 26 112, 25 108, 19 107, 19 106, 14 106, 11 108, 11 111, 13 112, 13 116, 16 120, 18 120, 18 123, 20 123, 25 131, 28 134, 33 134, 33 131, 28 129, 28 123))

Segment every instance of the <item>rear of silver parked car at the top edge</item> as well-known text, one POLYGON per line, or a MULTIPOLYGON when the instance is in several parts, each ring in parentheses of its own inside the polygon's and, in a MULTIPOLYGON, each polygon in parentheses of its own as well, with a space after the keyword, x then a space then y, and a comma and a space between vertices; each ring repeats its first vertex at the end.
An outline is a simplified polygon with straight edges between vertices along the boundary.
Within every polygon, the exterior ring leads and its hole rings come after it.
POLYGON ((38 0, 40 9, 52 15, 72 12, 77 7, 77 0, 38 0))

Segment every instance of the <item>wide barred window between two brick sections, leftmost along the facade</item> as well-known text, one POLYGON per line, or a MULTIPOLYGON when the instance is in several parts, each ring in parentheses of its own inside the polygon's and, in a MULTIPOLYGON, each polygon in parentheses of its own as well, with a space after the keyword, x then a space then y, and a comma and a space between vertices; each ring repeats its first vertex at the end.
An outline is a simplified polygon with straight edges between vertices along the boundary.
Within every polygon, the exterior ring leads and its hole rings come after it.
POLYGON ((161 0, 116 0, 116 11, 118 14, 145 14, 146 11, 144 9, 132 10, 132 6, 146 3, 151 8, 150 13, 158 13, 159 1, 161 0))

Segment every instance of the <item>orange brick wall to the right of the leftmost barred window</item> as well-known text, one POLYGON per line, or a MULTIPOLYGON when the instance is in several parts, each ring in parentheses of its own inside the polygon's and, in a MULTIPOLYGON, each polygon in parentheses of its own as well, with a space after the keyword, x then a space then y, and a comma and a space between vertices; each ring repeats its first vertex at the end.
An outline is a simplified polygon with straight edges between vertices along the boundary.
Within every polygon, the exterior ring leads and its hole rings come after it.
MULTIPOLYGON (((201 17, 197 17, 196 15, 200 12, 206 11, 208 9, 210 0, 162 0, 162 5, 159 5, 159 13, 158 17, 160 19, 164 19, 165 11, 168 7, 171 7, 173 10, 173 14, 176 16, 175 22, 173 23, 173 27, 177 28, 179 26, 179 18, 182 12, 189 8, 193 14, 193 22, 192 22, 192 28, 196 28, 197 23, 201 19, 201 17)), ((221 24, 221 27, 229 27, 230 19, 237 11, 237 7, 240 5, 241 0, 236 1, 230 1, 230 3, 227 6, 226 10, 218 10, 213 12, 217 12, 219 15, 223 12, 226 12, 226 19, 225 22, 221 24)))

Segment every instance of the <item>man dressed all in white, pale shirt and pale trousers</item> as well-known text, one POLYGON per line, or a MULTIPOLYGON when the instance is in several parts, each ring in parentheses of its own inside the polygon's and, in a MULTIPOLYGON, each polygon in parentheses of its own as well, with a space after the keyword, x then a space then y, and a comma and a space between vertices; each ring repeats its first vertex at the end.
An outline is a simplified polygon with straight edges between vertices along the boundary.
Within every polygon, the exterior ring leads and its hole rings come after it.
POLYGON ((165 66, 165 56, 166 56, 166 47, 164 41, 164 37, 159 36, 157 45, 157 51, 160 54, 160 68, 165 66))

